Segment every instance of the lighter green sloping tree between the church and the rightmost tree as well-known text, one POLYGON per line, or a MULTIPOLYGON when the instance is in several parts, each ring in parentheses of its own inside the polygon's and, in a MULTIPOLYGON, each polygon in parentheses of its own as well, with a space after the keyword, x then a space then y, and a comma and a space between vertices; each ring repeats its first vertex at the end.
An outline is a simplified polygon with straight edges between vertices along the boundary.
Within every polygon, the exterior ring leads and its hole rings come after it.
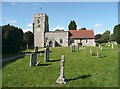
POLYGON ((101 38, 98 40, 99 43, 107 43, 110 41, 110 31, 105 31, 101 38))

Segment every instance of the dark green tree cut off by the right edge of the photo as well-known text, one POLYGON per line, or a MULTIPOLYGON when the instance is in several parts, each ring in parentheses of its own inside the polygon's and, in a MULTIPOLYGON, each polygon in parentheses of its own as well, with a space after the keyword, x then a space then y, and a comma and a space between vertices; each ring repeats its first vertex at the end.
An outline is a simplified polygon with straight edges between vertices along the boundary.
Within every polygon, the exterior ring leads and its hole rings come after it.
POLYGON ((114 29, 113 29, 113 37, 114 37, 114 40, 115 40, 118 44, 120 44, 120 24, 114 26, 114 29))

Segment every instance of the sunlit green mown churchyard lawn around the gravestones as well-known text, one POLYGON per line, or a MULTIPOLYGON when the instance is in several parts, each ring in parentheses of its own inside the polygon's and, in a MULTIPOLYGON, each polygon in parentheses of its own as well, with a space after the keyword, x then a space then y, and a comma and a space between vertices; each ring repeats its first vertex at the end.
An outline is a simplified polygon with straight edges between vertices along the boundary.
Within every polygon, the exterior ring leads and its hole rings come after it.
POLYGON ((44 62, 44 55, 39 56, 41 66, 29 66, 29 56, 3 65, 3 87, 117 87, 118 52, 117 46, 103 47, 100 58, 90 55, 90 49, 71 52, 69 47, 51 48, 50 60, 44 62), (67 84, 57 84, 60 71, 60 58, 65 55, 65 77, 67 84))

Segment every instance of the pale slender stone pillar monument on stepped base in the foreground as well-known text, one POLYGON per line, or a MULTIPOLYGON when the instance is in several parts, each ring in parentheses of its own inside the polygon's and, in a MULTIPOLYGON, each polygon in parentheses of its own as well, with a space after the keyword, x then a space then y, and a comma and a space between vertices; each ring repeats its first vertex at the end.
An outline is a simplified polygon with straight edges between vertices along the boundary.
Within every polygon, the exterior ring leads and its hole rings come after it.
POLYGON ((65 56, 62 55, 61 56, 61 61, 60 61, 60 75, 57 79, 57 83, 63 83, 63 84, 66 84, 66 81, 65 81, 65 76, 64 76, 64 64, 65 64, 65 56))

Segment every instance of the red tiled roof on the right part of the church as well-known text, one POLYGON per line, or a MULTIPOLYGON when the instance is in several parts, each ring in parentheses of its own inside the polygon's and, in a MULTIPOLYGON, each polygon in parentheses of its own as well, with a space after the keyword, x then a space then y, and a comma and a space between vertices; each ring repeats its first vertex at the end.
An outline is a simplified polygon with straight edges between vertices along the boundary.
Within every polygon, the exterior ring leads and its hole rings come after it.
POLYGON ((69 30, 70 38, 95 38, 93 30, 69 30))

